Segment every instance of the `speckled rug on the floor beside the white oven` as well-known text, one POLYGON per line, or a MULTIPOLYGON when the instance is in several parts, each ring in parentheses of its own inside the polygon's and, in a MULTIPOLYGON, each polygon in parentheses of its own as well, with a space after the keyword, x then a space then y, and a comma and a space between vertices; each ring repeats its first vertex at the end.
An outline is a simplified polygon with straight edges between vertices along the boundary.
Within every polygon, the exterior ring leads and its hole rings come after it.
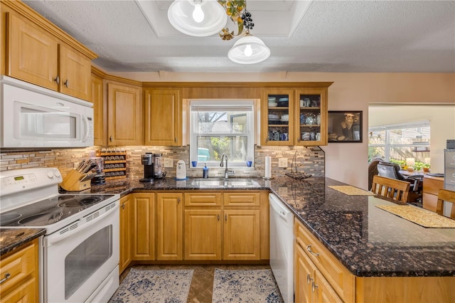
POLYGON ((132 268, 109 302, 186 303, 193 270, 132 268))

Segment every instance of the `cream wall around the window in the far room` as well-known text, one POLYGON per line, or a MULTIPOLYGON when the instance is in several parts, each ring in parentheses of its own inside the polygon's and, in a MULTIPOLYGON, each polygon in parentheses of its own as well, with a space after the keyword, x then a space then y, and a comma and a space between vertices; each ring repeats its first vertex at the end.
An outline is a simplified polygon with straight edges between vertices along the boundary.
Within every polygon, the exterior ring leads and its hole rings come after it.
POLYGON ((455 139, 455 105, 370 105, 369 126, 429 120, 432 172, 444 173, 447 139, 455 139))

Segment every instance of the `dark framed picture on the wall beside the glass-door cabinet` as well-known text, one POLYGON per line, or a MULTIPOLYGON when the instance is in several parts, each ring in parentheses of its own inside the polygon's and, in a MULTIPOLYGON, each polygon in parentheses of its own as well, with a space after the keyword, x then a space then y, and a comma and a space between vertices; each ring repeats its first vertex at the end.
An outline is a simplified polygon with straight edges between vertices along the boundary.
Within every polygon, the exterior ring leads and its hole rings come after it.
POLYGON ((361 110, 328 111, 328 143, 362 143, 361 110))

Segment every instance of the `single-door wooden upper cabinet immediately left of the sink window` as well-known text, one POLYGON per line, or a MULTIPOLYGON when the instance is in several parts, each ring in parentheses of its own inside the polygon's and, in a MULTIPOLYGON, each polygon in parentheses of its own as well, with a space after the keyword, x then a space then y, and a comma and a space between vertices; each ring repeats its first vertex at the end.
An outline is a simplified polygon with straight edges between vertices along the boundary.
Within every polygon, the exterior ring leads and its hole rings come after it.
POLYGON ((145 144, 177 147, 182 144, 181 91, 144 90, 145 144))

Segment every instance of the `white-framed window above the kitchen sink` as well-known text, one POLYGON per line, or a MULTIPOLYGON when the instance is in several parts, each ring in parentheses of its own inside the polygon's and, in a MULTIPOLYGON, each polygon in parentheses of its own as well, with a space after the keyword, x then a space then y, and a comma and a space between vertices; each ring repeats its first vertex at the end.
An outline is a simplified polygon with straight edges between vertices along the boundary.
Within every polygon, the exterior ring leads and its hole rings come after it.
POLYGON ((190 159, 197 166, 219 167, 223 154, 229 167, 254 161, 252 100, 191 100, 190 127, 190 159))

